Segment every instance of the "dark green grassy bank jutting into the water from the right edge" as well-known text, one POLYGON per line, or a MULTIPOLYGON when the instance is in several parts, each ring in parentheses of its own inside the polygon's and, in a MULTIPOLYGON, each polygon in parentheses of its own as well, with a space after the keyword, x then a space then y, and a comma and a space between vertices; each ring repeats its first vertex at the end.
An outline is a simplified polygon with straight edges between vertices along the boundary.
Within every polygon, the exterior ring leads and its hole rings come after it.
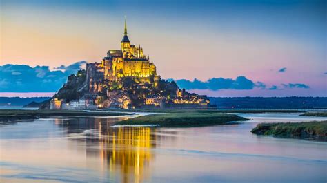
POLYGON ((327 140, 327 121, 261 123, 251 132, 265 136, 327 140))

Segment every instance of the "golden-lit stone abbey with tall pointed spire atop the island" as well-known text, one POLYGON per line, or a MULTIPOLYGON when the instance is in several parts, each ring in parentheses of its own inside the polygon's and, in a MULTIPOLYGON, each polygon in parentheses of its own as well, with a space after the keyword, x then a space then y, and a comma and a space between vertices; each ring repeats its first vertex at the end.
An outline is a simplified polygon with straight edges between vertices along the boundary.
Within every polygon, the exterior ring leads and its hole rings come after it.
POLYGON ((150 62, 149 56, 143 54, 143 48, 132 45, 128 39, 127 25, 121 40, 120 50, 109 50, 101 63, 88 63, 86 67, 89 87, 95 89, 102 80, 117 80, 117 78, 132 76, 150 78, 157 75, 156 67, 150 62))

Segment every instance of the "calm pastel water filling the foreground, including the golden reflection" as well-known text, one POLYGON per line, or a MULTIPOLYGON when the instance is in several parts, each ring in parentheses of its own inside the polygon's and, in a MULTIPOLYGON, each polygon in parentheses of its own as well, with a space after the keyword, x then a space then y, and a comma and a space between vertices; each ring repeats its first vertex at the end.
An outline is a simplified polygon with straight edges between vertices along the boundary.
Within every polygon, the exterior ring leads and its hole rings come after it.
POLYGON ((110 127, 119 118, 46 118, 0 127, 0 182, 326 182, 327 142, 256 136, 241 125, 110 127))

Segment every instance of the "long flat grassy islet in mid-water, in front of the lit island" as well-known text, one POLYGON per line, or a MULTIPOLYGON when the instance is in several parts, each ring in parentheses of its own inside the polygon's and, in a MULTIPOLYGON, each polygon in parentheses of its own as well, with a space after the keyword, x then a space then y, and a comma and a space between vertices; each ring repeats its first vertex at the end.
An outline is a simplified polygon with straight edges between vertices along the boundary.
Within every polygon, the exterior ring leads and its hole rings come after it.
POLYGON ((192 111, 139 116, 117 122, 116 125, 159 125, 160 127, 201 127, 226 125, 231 121, 244 121, 246 118, 217 111, 192 111))

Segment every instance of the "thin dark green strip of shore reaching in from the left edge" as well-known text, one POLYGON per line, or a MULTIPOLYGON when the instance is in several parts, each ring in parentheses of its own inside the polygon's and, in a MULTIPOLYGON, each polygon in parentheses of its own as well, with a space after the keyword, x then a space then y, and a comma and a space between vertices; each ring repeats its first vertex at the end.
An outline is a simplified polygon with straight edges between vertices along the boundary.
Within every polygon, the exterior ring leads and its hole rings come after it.
POLYGON ((86 112, 86 111, 54 111, 54 110, 0 110, 0 123, 13 120, 46 118, 51 116, 123 116, 119 112, 86 112))

